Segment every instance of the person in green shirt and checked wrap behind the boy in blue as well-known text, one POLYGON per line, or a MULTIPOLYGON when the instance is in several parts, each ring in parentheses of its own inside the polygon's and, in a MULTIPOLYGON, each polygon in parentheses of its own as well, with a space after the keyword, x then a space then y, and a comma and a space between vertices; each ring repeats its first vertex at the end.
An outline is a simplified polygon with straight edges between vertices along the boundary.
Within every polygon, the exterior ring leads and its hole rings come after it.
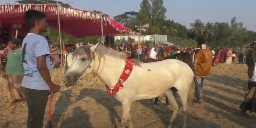
POLYGON ((20 49, 21 43, 20 39, 15 38, 8 42, 10 50, 7 54, 7 64, 3 72, 4 77, 7 79, 7 98, 11 106, 17 105, 16 101, 25 98, 20 89, 24 74, 22 52, 20 49))

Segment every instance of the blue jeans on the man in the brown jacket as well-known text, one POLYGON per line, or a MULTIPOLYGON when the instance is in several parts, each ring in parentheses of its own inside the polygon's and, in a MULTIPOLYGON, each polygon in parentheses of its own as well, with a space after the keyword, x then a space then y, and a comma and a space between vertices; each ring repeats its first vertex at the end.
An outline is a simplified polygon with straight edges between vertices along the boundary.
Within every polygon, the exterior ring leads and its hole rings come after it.
POLYGON ((203 101, 204 80, 205 80, 205 77, 195 77, 194 78, 194 82, 196 85, 196 98, 197 98, 197 101, 199 101, 199 102, 203 101))

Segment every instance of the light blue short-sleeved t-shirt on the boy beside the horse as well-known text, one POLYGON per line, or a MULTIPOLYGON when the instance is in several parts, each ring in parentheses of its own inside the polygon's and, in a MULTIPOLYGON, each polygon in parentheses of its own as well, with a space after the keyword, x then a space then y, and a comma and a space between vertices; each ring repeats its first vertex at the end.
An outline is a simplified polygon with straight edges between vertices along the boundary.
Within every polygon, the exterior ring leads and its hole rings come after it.
POLYGON ((37 69, 38 56, 46 57, 46 66, 51 74, 48 41, 41 35, 29 33, 22 42, 22 63, 25 73, 21 86, 35 90, 50 90, 37 69))

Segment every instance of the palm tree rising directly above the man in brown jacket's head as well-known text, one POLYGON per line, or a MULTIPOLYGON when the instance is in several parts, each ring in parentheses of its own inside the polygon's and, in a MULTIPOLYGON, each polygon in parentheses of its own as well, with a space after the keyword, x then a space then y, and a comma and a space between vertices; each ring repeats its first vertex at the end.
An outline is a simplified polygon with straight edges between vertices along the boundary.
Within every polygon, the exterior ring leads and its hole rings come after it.
POLYGON ((195 39, 197 36, 203 35, 204 23, 200 19, 195 19, 195 22, 191 23, 190 27, 192 27, 191 30, 196 35, 195 39))

